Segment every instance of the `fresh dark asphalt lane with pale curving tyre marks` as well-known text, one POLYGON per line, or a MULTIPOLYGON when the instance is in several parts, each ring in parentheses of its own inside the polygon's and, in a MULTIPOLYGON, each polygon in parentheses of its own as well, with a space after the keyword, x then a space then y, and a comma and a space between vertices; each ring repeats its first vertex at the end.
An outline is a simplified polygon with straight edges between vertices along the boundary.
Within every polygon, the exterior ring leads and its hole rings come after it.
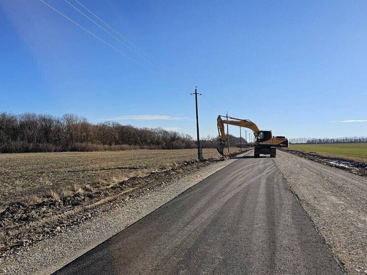
POLYGON ((269 157, 245 156, 56 274, 343 274, 269 157))

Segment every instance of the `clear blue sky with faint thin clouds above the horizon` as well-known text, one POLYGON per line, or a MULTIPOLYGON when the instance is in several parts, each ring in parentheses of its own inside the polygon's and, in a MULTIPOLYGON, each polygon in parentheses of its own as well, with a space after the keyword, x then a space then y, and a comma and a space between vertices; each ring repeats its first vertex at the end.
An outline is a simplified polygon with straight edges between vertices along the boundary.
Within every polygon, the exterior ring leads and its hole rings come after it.
POLYGON ((202 136, 226 111, 290 138, 367 136, 367 1, 78 0, 144 53, 44 1, 114 48, 40 0, 1 0, 0 111, 195 136, 197 85, 202 136))

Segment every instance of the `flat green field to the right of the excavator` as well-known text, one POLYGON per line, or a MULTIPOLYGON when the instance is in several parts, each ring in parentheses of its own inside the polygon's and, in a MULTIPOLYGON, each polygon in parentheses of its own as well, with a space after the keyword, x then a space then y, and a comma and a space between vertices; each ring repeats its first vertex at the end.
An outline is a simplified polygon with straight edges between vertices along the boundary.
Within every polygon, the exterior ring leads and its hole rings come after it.
POLYGON ((367 162, 367 143, 290 144, 289 149, 367 162))

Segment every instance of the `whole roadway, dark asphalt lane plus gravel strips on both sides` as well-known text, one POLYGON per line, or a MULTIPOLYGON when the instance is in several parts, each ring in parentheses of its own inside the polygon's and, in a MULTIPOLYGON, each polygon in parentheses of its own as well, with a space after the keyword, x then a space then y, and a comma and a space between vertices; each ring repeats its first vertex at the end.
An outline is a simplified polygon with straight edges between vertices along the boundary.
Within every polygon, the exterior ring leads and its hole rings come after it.
POLYGON ((52 238, 0 258, 2 272, 367 272, 366 177, 282 151, 242 156, 83 213, 52 238))

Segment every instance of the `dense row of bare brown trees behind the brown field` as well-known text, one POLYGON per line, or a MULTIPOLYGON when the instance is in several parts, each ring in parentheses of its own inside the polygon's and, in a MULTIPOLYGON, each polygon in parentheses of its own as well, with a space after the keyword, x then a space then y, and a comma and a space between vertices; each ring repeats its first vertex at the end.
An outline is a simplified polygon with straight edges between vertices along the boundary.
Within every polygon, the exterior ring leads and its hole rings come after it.
MULTIPOLYGON (((231 146, 240 143, 234 136, 230 140, 231 146)), ((200 142, 203 148, 215 148, 218 138, 208 137, 200 142)), ((118 122, 91 123, 74 114, 54 117, 0 113, 0 153, 189 148, 196 148, 196 141, 190 135, 162 128, 138 128, 118 122)))

